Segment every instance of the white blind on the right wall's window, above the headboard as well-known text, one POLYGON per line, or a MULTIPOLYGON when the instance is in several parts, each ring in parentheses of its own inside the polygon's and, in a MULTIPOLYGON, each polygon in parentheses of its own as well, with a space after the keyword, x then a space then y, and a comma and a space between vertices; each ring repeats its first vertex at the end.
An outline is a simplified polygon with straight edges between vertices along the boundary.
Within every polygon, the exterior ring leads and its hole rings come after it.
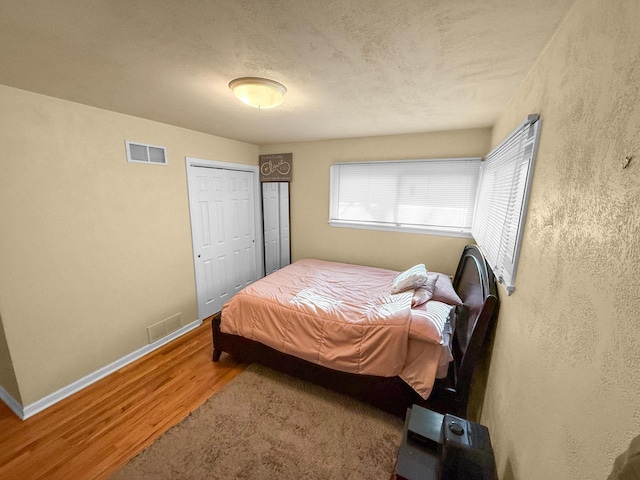
POLYGON ((472 234, 498 281, 511 295, 541 121, 529 115, 482 164, 472 234))

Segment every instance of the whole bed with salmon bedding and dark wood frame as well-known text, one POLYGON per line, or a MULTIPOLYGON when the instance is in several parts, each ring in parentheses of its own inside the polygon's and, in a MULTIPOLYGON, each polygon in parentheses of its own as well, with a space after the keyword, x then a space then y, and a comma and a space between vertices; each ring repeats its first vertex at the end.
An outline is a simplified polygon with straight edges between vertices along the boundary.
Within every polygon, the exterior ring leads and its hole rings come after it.
POLYGON ((443 299, 433 298, 442 274, 434 280, 429 272, 424 283, 430 285, 390 294, 399 272, 355 267, 364 269, 360 274, 349 267, 296 262, 236 294, 212 321, 213 360, 226 352, 399 417, 415 403, 467 418, 473 374, 498 313, 496 282, 480 250, 465 247, 450 282, 459 301, 446 300, 459 305, 426 337, 415 319, 419 310, 426 315, 426 305, 443 308, 443 299), (429 301, 415 306, 424 288, 431 288, 429 301))

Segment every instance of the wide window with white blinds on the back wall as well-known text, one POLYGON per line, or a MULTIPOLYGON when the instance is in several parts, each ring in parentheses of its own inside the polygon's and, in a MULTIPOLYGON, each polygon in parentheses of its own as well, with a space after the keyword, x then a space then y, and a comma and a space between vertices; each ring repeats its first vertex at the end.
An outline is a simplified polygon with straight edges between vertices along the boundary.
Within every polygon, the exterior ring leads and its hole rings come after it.
POLYGON ((333 226, 470 237, 480 158, 337 163, 333 226))

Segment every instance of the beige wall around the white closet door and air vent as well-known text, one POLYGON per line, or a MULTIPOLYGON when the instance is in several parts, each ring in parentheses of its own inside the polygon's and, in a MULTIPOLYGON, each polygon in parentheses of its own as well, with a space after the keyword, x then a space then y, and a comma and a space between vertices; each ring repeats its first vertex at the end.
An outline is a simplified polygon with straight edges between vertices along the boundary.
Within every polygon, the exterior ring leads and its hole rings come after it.
POLYGON ((258 147, 4 86, 0 105, 0 315, 28 405, 197 319, 185 156, 258 147), (125 139, 169 165, 127 163, 125 139))

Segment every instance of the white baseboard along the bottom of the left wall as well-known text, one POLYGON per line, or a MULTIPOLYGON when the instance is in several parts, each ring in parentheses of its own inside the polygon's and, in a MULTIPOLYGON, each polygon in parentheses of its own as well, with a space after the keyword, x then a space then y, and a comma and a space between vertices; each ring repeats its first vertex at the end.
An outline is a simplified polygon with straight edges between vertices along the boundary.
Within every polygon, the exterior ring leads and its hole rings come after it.
POLYGON ((106 365, 96 370, 95 372, 90 373, 85 377, 82 377, 79 380, 76 380, 75 382, 67 385, 66 387, 63 387, 60 390, 57 390, 47 395, 46 397, 43 397, 40 400, 27 405, 26 407, 23 407, 22 405, 20 405, 20 403, 17 402, 11 395, 9 395, 2 387, 0 387, 0 400, 6 403, 7 406, 11 410, 13 410, 15 414, 18 415, 22 420, 26 420, 27 418, 32 417, 36 413, 39 413, 42 410, 49 408, 53 404, 58 403, 60 400, 67 398, 68 396, 79 392, 83 388, 88 387, 92 383, 97 382, 101 378, 106 377, 110 373, 113 373, 116 370, 121 369, 125 365, 128 365, 131 362, 134 362, 135 360, 138 360, 139 358, 144 357, 146 354, 156 350, 157 348, 162 347, 163 345, 166 345, 170 341, 178 338, 181 335, 184 335, 185 333, 193 330, 194 328, 199 327, 201 324, 202 324, 202 320, 196 320, 195 322, 191 322, 190 324, 185 325, 184 327, 176 330, 175 332, 170 333, 166 337, 162 337, 161 339, 156 340, 155 342, 150 343, 149 345, 145 345, 144 347, 139 348, 138 350, 131 352, 128 355, 125 355, 124 357, 116 360, 115 362, 110 363, 109 365, 106 365))

